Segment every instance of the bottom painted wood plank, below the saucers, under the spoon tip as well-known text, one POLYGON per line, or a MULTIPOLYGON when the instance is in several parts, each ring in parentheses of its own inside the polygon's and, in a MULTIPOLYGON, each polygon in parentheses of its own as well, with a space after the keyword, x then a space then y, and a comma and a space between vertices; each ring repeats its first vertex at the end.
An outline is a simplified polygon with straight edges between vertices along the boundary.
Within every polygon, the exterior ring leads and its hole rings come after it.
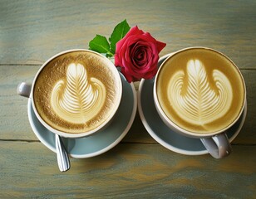
POLYGON ((222 160, 185 156, 159 144, 121 143, 59 172, 41 143, 0 142, 1 198, 253 198, 255 146, 222 160))

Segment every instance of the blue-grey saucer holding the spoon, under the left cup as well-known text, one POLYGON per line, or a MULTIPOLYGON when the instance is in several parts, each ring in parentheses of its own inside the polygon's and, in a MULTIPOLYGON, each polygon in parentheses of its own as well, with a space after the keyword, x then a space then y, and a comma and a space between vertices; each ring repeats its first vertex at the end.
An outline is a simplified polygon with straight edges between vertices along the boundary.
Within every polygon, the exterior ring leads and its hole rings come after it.
MULTIPOLYGON (((105 153, 126 136, 135 119, 137 100, 134 85, 129 84, 123 75, 121 75, 121 80, 123 85, 121 104, 113 121, 106 129, 84 138, 62 138, 65 148, 72 158, 90 158, 105 153)), ((56 153, 55 134, 39 122, 32 109, 31 99, 28 99, 27 113, 29 123, 37 138, 56 153)))

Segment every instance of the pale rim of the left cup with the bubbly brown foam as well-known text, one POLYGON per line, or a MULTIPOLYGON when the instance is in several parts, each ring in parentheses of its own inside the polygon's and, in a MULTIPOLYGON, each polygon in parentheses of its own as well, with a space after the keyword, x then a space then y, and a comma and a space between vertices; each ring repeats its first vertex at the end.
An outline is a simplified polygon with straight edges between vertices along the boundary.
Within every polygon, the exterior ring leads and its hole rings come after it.
POLYGON ((89 135, 91 135, 93 133, 96 133, 96 132, 100 131, 101 129, 104 129, 107 124, 111 123, 111 119, 114 117, 114 115, 116 114, 117 109, 119 108, 119 105, 121 104, 122 90, 123 90, 123 88, 122 88, 121 76, 120 76, 118 70, 116 69, 116 66, 114 66, 114 64, 112 63, 112 61, 110 61, 105 56, 102 56, 100 53, 98 53, 96 51, 91 51, 91 50, 87 50, 87 49, 77 48, 77 49, 70 49, 70 50, 66 50, 66 51, 61 51, 61 52, 57 53, 56 55, 52 56, 51 58, 49 58, 47 61, 45 61, 42 64, 40 69, 37 70, 37 74, 35 75, 35 77, 34 77, 34 79, 32 81, 32 89, 31 89, 31 93, 30 93, 30 99, 32 99, 31 100, 32 101, 32 109, 34 109, 34 112, 35 112, 35 114, 37 116, 37 119, 39 119, 39 121, 42 123, 42 125, 44 125, 48 130, 52 131, 52 133, 56 133, 56 134, 58 134, 58 135, 60 135, 62 137, 65 137, 65 138, 82 138, 82 137, 89 136, 89 135), (86 51, 86 52, 89 52, 89 53, 96 54, 96 56, 101 56, 101 58, 103 58, 103 59, 106 59, 106 61, 108 62, 108 65, 111 67, 111 70, 113 70, 113 73, 116 75, 116 79, 117 79, 117 82, 118 82, 118 85, 119 85, 119 89, 118 90, 120 90, 120 92, 118 93, 118 96, 117 96, 116 103, 114 104, 114 107, 112 109, 112 112, 111 112, 110 116, 101 125, 96 127, 96 129, 91 129, 89 131, 82 132, 82 133, 67 133, 67 132, 64 132, 64 131, 61 131, 61 130, 58 130, 58 129, 54 129, 51 125, 47 124, 47 122, 44 119, 42 119, 40 114, 38 114, 36 105, 34 103, 34 98, 33 98, 34 86, 35 86, 35 83, 37 81, 37 77, 40 74, 40 72, 42 71, 42 69, 45 66, 47 66, 47 64, 50 61, 52 61, 53 59, 57 58, 58 56, 62 56, 64 54, 67 54, 67 53, 70 53, 70 52, 74 52, 74 51, 86 51))

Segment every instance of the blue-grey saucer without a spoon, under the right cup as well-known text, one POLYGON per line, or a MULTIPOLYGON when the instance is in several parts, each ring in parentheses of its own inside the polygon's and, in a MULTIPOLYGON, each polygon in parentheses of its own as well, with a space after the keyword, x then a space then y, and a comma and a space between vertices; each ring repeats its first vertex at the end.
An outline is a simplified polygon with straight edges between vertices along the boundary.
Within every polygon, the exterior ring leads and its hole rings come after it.
MULTIPOLYGON (((158 62, 158 66, 160 66, 168 56, 170 56, 170 54, 162 56, 158 62)), ((206 148, 204 148, 204 145, 201 143, 199 138, 189 138, 181 135, 180 133, 175 133, 165 125, 162 119, 160 119, 160 116, 155 109, 153 98, 154 80, 155 79, 141 80, 138 91, 138 109, 140 119, 151 137, 165 148, 176 153, 185 155, 202 155, 209 153, 206 148)), ((242 129, 246 113, 247 104, 245 104, 244 112, 241 114, 239 120, 226 132, 229 142, 232 142, 242 129)))

